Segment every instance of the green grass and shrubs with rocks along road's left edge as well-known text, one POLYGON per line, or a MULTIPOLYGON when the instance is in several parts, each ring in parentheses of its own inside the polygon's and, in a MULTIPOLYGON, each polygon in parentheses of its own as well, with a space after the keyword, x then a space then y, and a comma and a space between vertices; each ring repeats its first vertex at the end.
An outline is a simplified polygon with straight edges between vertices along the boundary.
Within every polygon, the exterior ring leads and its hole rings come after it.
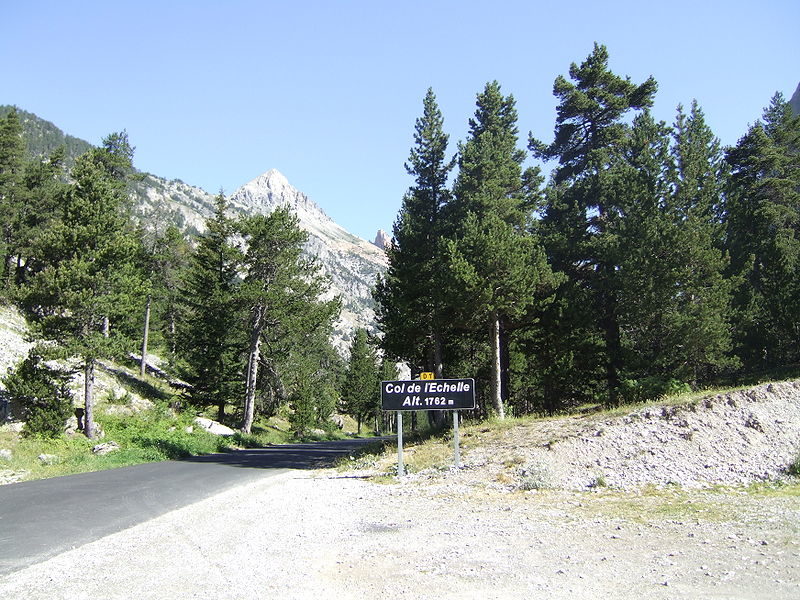
POLYGON ((16 427, 12 423, 0 427, 0 483, 356 435, 356 422, 348 417, 341 417, 342 429, 331 423, 324 430, 298 432, 288 407, 271 417, 259 416, 250 433, 217 435, 195 421, 196 417, 215 421, 217 407, 187 407, 181 396, 158 378, 142 378, 119 365, 104 363, 98 382, 106 391, 97 401, 96 439, 69 428, 64 432, 63 415, 55 412, 46 414, 56 423, 39 419, 39 429, 30 430, 21 422, 16 427), (113 448, 108 453, 93 450, 108 444, 113 448))

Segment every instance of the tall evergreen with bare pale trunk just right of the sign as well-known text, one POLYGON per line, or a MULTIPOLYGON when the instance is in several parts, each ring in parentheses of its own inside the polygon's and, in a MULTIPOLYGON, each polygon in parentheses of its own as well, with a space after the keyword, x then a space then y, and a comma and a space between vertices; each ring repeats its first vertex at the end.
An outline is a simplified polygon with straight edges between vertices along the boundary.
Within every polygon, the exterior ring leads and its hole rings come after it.
POLYGON ((488 83, 460 146, 447 210, 448 292, 462 327, 488 333, 491 403, 501 418, 508 398, 508 336, 555 284, 530 231, 540 177, 535 170, 523 174, 525 152, 517 148, 517 133, 513 96, 503 96, 496 81, 488 83))

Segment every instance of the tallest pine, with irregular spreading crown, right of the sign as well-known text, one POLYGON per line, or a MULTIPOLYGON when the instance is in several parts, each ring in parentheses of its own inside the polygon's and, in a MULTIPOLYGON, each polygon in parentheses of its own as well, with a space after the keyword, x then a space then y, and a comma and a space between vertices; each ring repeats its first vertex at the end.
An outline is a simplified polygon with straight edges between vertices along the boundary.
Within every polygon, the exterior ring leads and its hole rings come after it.
MULTIPOLYGON (((631 110, 649 107, 657 85, 652 77, 636 85, 613 74, 608 69, 608 51, 598 44, 580 66, 571 65, 569 75, 574 83, 559 76, 553 86, 559 99, 554 141, 545 145, 531 137, 529 147, 541 158, 558 159, 553 176, 556 189, 544 214, 548 254, 554 268, 569 276, 556 307, 560 307, 560 317, 572 320, 568 337, 597 340, 591 321, 597 322, 607 400, 614 404, 623 354, 616 281, 619 249, 611 233, 621 212, 619 198, 612 193, 613 168, 628 138, 624 117, 631 110), (595 311, 591 318, 586 315, 589 306, 595 311)), ((556 328, 565 326, 550 322, 556 328)), ((571 362, 567 357, 554 358, 556 363, 571 362)), ((594 371, 592 360, 587 357, 587 372, 594 371)), ((583 382, 583 386, 592 384, 583 382)))

